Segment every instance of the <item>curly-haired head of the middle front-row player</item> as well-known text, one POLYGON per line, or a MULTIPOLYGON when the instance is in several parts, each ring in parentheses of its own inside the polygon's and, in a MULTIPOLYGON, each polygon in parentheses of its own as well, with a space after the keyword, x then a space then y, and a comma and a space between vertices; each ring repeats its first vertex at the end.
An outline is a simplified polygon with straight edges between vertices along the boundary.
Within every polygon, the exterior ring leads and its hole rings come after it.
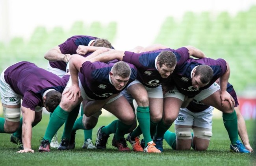
POLYGON ((168 76, 170 76, 173 73, 176 64, 177 64, 177 59, 173 52, 162 51, 158 55, 156 65, 161 77, 167 78, 168 76))

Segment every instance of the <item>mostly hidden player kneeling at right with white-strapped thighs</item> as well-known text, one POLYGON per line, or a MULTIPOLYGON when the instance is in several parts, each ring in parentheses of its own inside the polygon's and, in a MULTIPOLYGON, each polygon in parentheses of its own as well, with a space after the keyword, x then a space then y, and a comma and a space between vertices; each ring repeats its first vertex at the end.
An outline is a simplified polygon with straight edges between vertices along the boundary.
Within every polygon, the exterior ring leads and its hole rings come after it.
MULTIPOLYGON (((245 147, 250 152, 253 152, 250 146, 245 120, 240 113, 236 92, 230 83, 228 83, 227 91, 235 100, 234 107, 237 114, 238 134, 245 147)), ((187 108, 180 109, 178 118, 174 122, 176 131, 182 128, 183 136, 178 132, 172 133, 171 131, 166 131, 164 139, 174 150, 189 150, 191 146, 198 151, 206 150, 212 135, 212 116, 212 106, 192 100, 187 108), (193 129, 192 134, 191 129, 193 129)))

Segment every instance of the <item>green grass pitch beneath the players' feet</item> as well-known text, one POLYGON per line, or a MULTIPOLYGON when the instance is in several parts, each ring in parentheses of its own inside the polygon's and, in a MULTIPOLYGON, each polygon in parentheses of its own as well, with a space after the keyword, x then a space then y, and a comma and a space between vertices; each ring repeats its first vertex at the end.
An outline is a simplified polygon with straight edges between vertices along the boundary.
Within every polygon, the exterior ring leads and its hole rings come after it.
MULTIPOLYGON (((33 127, 32 149, 35 153, 16 153, 18 151, 15 144, 11 144, 10 134, 0 134, 0 165, 255 165, 252 160, 255 159, 254 154, 241 154, 229 152, 230 142, 228 134, 224 129, 221 119, 213 120, 213 136, 210 141, 210 146, 207 151, 174 151, 164 141, 164 152, 160 154, 147 154, 136 152, 119 152, 112 147, 110 136, 106 150, 88 150, 82 149, 83 132, 77 131, 76 134, 76 148, 69 151, 58 151, 51 148, 50 153, 39 153, 39 139, 44 135, 49 116, 44 114, 43 120, 35 127, 33 127)), ((96 131, 101 125, 106 125, 115 117, 100 117, 99 122, 93 130, 93 140, 96 138, 96 131)), ((253 129, 255 121, 246 121, 247 130, 249 133, 250 142, 253 140, 253 129)), ((170 129, 174 131, 173 126, 170 129)), ((60 140, 63 127, 58 131, 58 138, 60 140)), ((130 148, 131 146, 128 145, 130 148)), ((255 150, 255 149, 254 149, 255 150)))

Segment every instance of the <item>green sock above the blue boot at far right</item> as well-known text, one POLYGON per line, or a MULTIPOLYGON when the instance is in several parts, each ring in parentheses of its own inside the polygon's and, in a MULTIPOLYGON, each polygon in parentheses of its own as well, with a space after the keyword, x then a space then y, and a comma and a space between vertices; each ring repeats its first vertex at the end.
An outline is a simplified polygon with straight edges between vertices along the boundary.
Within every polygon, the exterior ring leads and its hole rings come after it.
POLYGON ((223 113, 222 118, 226 131, 228 131, 228 136, 231 144, 236 144, 236 141, 238 140, 236 111, 234 111, 233 113, 223 113))

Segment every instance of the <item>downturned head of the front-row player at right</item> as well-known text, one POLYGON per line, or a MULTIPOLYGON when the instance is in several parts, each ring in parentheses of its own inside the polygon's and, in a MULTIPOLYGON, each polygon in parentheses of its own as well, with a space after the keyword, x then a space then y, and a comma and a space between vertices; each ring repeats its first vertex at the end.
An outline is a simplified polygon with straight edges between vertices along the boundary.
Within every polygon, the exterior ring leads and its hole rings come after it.
POLYGON ((213 78, 213 70, 208 65, 199 65, 192 72, 192 85, 194 88, 202 88, 213 78))

